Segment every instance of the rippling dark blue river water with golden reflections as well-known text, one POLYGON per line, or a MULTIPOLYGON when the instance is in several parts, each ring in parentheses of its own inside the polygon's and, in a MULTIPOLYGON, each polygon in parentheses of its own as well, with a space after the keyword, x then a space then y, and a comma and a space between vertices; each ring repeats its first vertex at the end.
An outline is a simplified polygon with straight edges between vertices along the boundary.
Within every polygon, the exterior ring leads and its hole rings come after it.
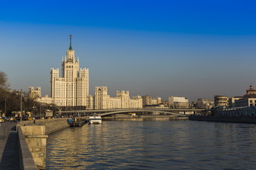
POLYGON ((50 134, 46 169, 256 169, 256 125, 111 120, 50 134))

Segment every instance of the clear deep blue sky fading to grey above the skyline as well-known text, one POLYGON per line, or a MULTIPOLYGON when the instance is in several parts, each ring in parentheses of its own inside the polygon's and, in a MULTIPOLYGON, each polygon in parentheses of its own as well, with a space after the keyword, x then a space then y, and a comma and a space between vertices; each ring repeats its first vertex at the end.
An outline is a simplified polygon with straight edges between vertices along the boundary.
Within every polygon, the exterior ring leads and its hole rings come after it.
POLYGON ((73 35, 90 94, 241 96, 256 88, 256 1, 1 1, 0 70, 11 89, 41 86, 73 35))

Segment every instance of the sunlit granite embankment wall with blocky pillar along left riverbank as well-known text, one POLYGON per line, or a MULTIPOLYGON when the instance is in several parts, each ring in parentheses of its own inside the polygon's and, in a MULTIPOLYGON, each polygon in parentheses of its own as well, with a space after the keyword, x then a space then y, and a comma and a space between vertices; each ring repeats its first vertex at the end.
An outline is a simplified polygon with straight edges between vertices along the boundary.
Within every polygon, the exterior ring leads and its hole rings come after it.
POLYGON ((48 134, 68 127, 70 125, 67 118, 26 120, 18 123, 20 169, 46 169, 48 134))

